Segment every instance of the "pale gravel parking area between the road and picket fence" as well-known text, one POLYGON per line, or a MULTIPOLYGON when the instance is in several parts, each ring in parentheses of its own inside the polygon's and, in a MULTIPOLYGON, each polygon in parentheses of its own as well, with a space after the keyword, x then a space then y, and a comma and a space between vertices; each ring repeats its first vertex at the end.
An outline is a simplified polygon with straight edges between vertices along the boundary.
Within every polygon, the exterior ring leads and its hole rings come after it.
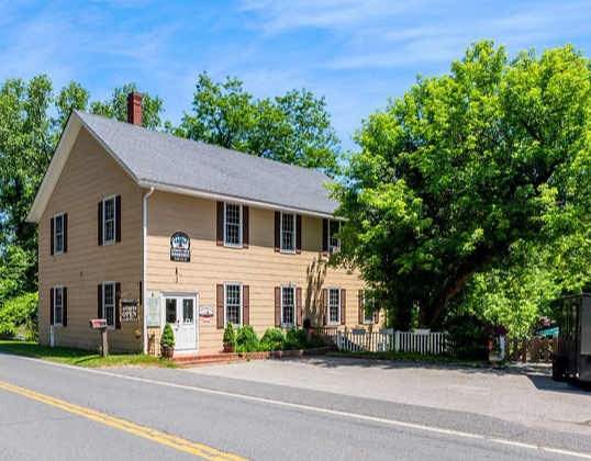
POLYGON ((547 366, 493 370, 312 357, 202 367, 190 372, 461 411, 591 435, 591 392, 554 382, 547 366))

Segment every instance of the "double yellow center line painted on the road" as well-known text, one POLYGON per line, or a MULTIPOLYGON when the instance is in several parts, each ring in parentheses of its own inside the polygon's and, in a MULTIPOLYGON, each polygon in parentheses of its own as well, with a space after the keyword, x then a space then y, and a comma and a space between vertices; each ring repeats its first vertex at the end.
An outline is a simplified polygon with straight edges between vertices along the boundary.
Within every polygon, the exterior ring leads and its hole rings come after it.
POLYGON ((115 429, 124 430, 130 434, 134 434, 138 437, 143 437, 148 440, 165 445, 176 450, 185 451, 207 460, 211 461, 248 461, 246 458, 238 457, 237 454, 225 453, 214 448, 194 443, 190 440, 181 439, 180 437, 170 436, 159 430, 152 429, 149 427, 140 426, 125 419, 115 418, 104 413, 96 412, 90 408, 85 408, 68 402, 60 401, 58 398, 51 397, 48 395, 40 394, 37 392, 30 391, 24 387, 19 387, 13 384, 0 381, 0 389, 4 389, 10 392, 23 395, 29 398, 42 402, 44 404, 62 408, 66 412, 74 413, 85 418, 92 419, 97 423, 104 424, 107 426, 114 427, 115 429))

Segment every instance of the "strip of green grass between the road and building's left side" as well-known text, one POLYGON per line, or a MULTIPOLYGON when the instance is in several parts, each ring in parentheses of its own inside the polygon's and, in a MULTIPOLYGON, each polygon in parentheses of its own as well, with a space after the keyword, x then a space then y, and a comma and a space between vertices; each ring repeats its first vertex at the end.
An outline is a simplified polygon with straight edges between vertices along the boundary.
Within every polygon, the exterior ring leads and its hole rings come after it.
POLYGON ((16 353, 19 356, 36 357, 52 362, 67 363, 78 367, 167 367, 177 368, 169 360, 153 356, 113 355, 102 357, 99 353, 82 349, 67 349, 64 347, 40 346, 36 342, 3 341, 0 340, 0 351, 16 353))

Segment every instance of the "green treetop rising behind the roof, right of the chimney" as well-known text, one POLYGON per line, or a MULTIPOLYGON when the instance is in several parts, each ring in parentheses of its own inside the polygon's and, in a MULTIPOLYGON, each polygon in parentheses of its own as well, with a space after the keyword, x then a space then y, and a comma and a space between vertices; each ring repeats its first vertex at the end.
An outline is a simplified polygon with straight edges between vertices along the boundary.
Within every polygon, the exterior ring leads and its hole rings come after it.
POLYGON ((179 127, 167 123, 168 132, 331 176, 338 172, 339 143, 326 102, 305 89, 260 100, 235 78, 222 83, 202 74, 193 111, 179 127))

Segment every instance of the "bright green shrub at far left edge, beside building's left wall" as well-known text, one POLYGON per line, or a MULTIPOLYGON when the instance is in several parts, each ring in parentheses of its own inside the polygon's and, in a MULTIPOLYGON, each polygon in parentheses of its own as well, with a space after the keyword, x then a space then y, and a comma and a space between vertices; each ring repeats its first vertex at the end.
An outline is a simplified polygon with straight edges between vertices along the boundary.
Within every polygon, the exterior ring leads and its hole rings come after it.
POLYGON ((38 293, 24 293, 0 306, 0 336, 12 338, 21 333, 35 340, 37 334, 38 293))

